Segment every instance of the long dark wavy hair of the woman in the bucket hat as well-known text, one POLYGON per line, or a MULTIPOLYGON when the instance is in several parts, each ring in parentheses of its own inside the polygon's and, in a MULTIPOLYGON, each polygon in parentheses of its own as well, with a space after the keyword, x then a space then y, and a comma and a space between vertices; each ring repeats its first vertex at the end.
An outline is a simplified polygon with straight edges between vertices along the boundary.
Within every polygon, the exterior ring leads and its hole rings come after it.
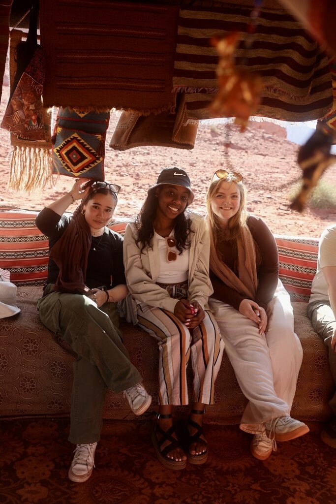
MULTIPOLYGON (((154 219, 158 207, 158 199, 155 197, 155 191, 150 191, 143 204, 140 213, 138 214, 135 225, 138 232, 136 243, 141 244, 141 252, 145 247, 151 246, 151 241, 154 236, 154 219)), ((189 235, 191 230, 191 219, 189 212, 185 210, 174 219, 174 236, 176 240, 176 248, 179 255, 183 250, 189 248, 190 239, 189 235)))

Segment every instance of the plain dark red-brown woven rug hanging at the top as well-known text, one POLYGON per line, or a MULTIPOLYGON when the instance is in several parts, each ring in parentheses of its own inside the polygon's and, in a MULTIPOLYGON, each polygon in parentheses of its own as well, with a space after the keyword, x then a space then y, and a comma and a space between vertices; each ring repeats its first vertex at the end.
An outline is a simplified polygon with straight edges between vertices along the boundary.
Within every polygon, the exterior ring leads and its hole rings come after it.
POLYGON ((169 110, 177 18, 174 5, 41 0, 45 105, 169 110))

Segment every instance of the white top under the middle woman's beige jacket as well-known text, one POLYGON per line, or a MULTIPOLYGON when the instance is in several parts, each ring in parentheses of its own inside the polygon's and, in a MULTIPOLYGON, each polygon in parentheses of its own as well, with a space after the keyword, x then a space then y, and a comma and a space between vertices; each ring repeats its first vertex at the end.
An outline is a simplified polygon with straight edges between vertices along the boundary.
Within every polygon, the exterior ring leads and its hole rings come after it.
MULTIPOLYGON (((188 279, 189 272, 189 249, 184 249, 180 256, 176 248, 169 247, 170 251, 176 253, 176 261, 168 262, 166 238, 160 236, 155 231, 154 236, 158 242, 160 255, 160 274, 156 279, 157 283, 173 284, 185 282, 188 279)), ((174 230, 172 230, 169 236, 174 236, 174 230)))

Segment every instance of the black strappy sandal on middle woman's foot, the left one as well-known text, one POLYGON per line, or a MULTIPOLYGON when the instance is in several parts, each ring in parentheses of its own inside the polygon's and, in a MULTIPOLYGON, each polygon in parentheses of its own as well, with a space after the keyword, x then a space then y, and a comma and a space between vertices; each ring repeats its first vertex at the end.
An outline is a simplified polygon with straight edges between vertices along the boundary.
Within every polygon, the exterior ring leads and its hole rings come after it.
MULTIPOLYGON (((157 414, 157 418, 171 418, 172 415, 162 415, 161 413, 157 414)), ((175 439, 172 434, 174 432, 174 427, 171 426, 168 430, 163 430, 160 425, 156 424, 155 428, 152 432, 152 443, 154 445, 156 455, 165 467, 168 469, 173 469, 174 471, 178 471, 180 469, 184 469, 187 465, 186 460, 174 460, 167 457, 167 453, 175 450, 175 448, 181 448, 177 439, 175 439), (161 435, 161 439, 159 440, 157 437, 157 432, 161 435), (166 442, 170 441, 170 445, 167 445, 165 448, 161 449, 161 446, 166 442)))

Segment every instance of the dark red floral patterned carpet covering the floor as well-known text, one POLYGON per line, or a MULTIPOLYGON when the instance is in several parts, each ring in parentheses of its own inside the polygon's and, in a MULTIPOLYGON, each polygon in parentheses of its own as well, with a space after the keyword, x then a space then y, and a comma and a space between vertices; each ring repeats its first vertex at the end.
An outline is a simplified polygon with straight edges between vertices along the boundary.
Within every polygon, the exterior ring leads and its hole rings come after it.
POLYGON ((267 461, 249 453, 238 426, 207 425, 211 455, 204 466, 166 470, 150 443, 152 422, 105 421, 96 468, 86 483, 68 480, 73 446, 68 419, 8 420, 0 434, 3 504, 332 504, 336 450, 321 424, 267 461))

